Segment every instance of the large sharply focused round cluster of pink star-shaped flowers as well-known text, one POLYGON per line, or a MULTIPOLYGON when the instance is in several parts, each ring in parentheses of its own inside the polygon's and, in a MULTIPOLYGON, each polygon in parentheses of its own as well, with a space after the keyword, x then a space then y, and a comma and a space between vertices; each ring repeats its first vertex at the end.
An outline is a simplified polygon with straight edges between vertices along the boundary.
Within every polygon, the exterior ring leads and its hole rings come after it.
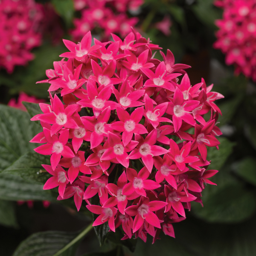
POLYGON ((207 147, 219 145, 214 101, 223 96, 204 79, 192 86, 189 66, 175 64, 170 50, 155 59, 161 48, 139 33, 112 36, 93 46, 90 32, 78 44, 64 40, 69 52, 60 56, 68 60, 54 62, 40 81, 50 84, 50 105, 39 104, 43 113, 32 120, 43 131, 31 142, 51 155, 44 189, 58 187, 58 200, 74 196, 78 210, 85 200, 99 215, 93 226, 122 225, 123 239, 145 241, 148 233, 155 241, 160 230, 174 237, 172 223, 214 184, 207 147))

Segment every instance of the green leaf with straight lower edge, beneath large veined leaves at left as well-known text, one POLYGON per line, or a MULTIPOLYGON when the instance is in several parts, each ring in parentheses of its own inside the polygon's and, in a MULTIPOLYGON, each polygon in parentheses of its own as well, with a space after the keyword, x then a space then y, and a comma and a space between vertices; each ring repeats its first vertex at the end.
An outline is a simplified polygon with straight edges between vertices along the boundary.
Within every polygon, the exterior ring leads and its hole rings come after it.
POLYGON ((43 185, 33 184, 19 176, 7 173, 0 174, 0 199, 56 201, 49 191, 43 190, 43 185))

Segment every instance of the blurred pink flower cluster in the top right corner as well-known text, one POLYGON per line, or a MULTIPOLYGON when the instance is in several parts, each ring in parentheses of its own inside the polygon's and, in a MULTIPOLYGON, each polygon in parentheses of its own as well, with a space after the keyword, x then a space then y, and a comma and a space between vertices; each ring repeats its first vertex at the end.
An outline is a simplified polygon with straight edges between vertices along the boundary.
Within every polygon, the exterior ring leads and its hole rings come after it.
POLYGON ((228 65, 235 64, 235 73, 256 81, 256 1, 217 0, 215 5, 224 13, 216 21, 220 30, 214 47, 226 54, 228 65))

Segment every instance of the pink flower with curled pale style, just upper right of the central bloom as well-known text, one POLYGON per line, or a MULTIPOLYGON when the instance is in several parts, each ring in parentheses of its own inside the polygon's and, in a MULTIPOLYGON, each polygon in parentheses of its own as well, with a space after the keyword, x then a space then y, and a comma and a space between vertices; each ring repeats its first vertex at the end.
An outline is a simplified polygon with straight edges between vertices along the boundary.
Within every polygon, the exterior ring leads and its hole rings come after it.
POLYGON ((172 120, 166 117, 161 117, 166 112, 167 107, 168 102, 161 103, 154 107, 152 100, 148 97, 148 94, 146 94, 143 116, 145 116, 146 120, 148 120, 148 122, 150 122, 151 125, 156 129, 159 122, 172 122, 172 120))

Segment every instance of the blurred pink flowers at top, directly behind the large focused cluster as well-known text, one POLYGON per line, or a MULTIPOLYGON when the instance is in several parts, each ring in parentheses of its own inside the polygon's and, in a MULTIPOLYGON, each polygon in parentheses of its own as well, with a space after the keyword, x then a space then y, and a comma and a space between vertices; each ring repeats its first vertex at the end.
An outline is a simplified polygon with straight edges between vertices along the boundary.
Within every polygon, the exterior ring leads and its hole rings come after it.
POLYGON ((111 33, 119 33, 125 37, 131 26, 139 21, 137 17, 128 17, 126 12, 136 12, 144 0, 74 0, 81 18, 74 20, 75 29, 71 32, 73 38, 80 40, 84 34, 94 28, 103 29, 103 37, 111 33))

